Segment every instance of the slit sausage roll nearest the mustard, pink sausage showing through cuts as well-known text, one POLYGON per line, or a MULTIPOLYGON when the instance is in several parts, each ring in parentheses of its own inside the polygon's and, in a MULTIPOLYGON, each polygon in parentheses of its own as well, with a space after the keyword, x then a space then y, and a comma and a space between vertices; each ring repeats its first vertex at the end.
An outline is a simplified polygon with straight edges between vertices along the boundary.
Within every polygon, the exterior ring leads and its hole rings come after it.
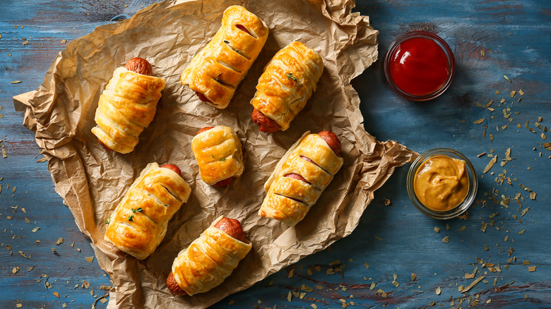
POLYGON ((343 166, 340 141, 329 131, 304 133, 281 158, 264 184, 268 193, 259 210, 261 217, 295 226, 343 166))

